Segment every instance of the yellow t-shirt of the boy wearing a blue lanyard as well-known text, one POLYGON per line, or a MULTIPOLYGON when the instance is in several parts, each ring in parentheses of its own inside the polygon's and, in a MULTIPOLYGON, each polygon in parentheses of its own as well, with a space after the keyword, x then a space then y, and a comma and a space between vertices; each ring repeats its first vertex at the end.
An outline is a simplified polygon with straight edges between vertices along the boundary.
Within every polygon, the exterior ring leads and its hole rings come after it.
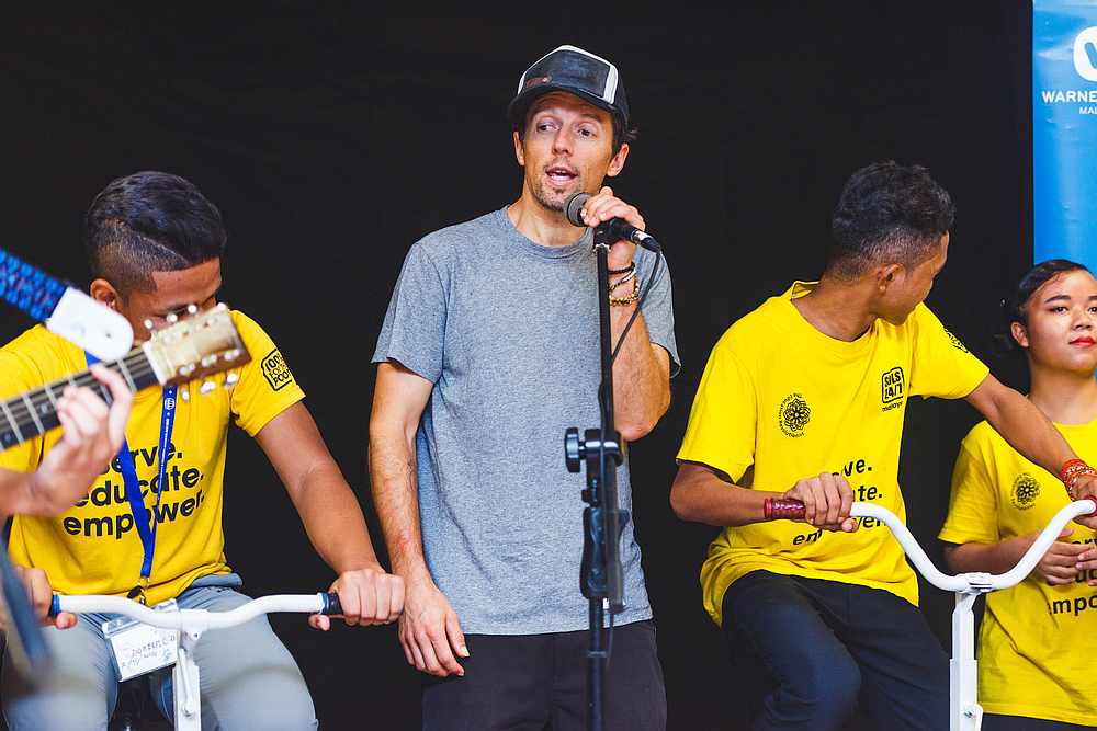
MULTIPOLYGON (((238 368, 231 389, 199 392, 201 381, 180 386, 165 483, 156 511, 158 527, 149 604, 178 596, 191 582, 231 570, 225 559, 222 496, 225 452, 231 415, 255 436, 271 419, 304 398, 270 336, 251 319, 233 312, 233 321, 251 361, 238 368), (188 391, 188 399, 182 391, 188 391)), ((0 349, 0 397, 64 378, 88 367, 83 351, 38 325, 0 349)), ((223 376, 214 376, 220 382, 223 376)), ((156 505, 162 390, 149 388, 134 398, 126 443, 136 454, 137 477, 149 514, 156 505)), ((61 436, 48 432, 0 454, 0 466, 30 471, 44 450, 61 436)), ((95 479, 84 500, 56 517, 16 515, 9 550, 15 563, 44 569, 54 590, 64 594, 125 595, 140 574, 144 549, 126 502, 117 457, 95 479)))

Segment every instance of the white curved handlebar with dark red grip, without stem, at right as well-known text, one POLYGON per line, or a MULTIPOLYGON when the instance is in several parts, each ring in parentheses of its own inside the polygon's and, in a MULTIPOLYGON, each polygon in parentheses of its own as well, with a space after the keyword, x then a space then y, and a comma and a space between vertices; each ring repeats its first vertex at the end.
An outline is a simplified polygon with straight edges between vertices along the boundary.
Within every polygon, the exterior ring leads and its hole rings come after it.
MULTIPOLYGON (((1044 527, 1029 549, 1025 551, 1020 561, 1005 573, 975 572, 958 575, 942 573, 934 566, 934 562, 926 556, 926 551, 923 550, 911 530, 886 507, 874 503, 855 502, 849 514, 853 517, 875 518, 886 525, 903 547, 903 550, 911 558, 911 562, 914 563, 918 573, 925 576, 926 581, 934 586, 948 592, 993 592, 999 589, 1009 589, 1020 583, 1025 576, 1032 572, 1032 569, 1040 562, 1040 559, 1051 545, 1055 542, 1059 534, 1063 532, 1067 523, 1079 515, 1088 515, 1094 511, 1097 511, 1097 503, 1088 499, 1077 500, 1063 506, 1062 510, 1055 513, 1055 517, 1051 518, 1051 522, 1044 527)), ((771 499, 767 503, 767 517, 803 519, 804 504, 799 500, 784 498, 771 499)))

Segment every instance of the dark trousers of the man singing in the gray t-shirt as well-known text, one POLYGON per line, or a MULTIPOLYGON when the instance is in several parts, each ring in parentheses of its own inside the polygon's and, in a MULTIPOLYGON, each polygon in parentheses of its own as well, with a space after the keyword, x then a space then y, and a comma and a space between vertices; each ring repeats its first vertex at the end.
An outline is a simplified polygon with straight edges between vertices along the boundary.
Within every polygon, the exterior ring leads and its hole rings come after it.
MULTIPOLYGON (((587 631, 466 635, 464 677, 425 676, 426 731, 579 730, 586 723, 587 631)), ((606 728, 663 731, 667 699, 655 624, 613 630, 606 728)))

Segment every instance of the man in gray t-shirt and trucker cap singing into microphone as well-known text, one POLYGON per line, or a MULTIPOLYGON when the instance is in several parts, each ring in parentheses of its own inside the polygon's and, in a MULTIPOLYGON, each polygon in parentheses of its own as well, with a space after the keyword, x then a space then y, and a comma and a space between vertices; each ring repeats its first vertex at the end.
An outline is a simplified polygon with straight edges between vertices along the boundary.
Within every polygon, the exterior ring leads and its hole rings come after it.
MULTIPOLYGON (((431 729, 579 728, 588 604, 579 593, 581 476, 567 426, 597 424, 599 332, 590 231, 565 203, 593 194, 595 227, 644 219, 609 187, 634 134, 617 68, 562 46, 510 103, 521 195, 411 247, 373 361, 370 473, 394 571, 407 586, 400 643, 429 673, 431 729)), ((609 252, 614 343, 652 292, 613 366, 617 427, 647 434, 678 369, 670 277, 657 256, 609 252)), ((627 464, 618 471, 631 505, 627 464)), ((621 541, 627 609, 615 618, 608 728, 661 729, 655 625, 632 524, 621 541)))

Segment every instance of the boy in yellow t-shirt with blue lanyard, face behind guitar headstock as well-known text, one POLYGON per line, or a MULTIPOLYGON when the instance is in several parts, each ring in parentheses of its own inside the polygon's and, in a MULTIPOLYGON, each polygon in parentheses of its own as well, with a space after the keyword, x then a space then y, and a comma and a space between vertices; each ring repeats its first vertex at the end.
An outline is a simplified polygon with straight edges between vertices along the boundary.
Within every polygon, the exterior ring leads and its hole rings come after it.
MULTIPOLYGON (((90 294, 129 320, 162 324, 188 306, 216 304, 226 232, 220 213, 189 181, 142 172, 108 185, 84 222, 90 294)), ((252 359, 231 390, 138 393, 126 439, 88 496, 56 517, 16 515, 9 550, 15 563, 44 570, 65 594, 128 595, 155 605, 231 609, 249 597, 225 557, 222 532, 229 421, 255 437, 282 479, 313 545, 338 574, 348 624, 392 621, 403 582, 377 563, 365 521, 308 410, 304 392, 265 332, 233 318, 252 359), (155 533, 151 529, 155 527, 155 533)), ((138 335, 138 340, 140 336, 138 335)), ((87 367, 71 343, 33 328, 0 349, 0 396, 39 387, 87 367)), ((30 470, 56 448, 58 435, 30 439, 0 464, 30 470)), ((3 667, 3 711, 19 729, 102 729, 117 697, 117 674, 101 624, 81 615, 67 631, 47 628, 56 670, 32 685, 3 667)), ((313 617, 326 629, 326 617, 313 617)), ((202 638, 202 717, 222 728, 309 729, 316 713, 301 671, 265 617, 202 638)), ((170 675, 149 676, 160 710, 171 717, 170 675)))

